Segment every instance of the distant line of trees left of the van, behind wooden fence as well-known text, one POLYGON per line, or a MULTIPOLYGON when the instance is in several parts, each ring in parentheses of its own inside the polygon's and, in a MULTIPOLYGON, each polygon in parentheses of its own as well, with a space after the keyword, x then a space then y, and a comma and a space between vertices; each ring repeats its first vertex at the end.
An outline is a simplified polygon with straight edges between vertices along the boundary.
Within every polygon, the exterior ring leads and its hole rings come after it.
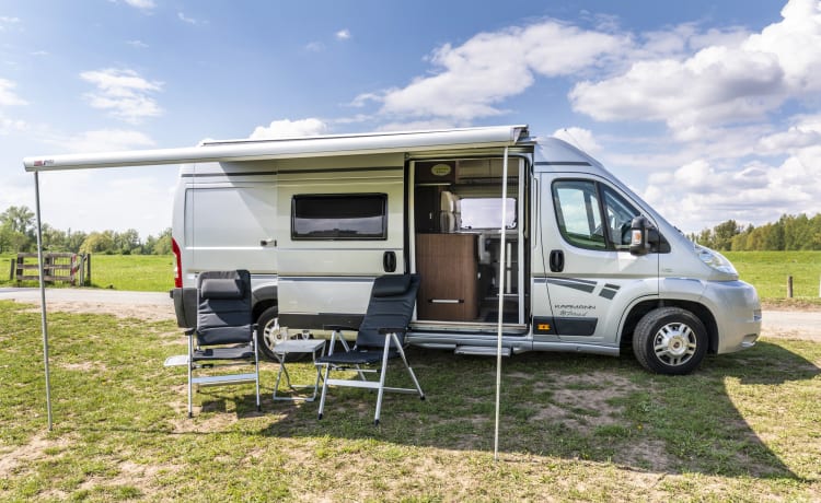
MULTIPOLYGON (((123 232, 85 233, 54 229, 43 224, 43 249, 74 254, 167 255, 171 254, 171 227, 144 241, 134 229, 123 232)), ((34 212, 25 206, 9 207, 0 213, 0 253, 37 250, 37 223, 34 212)))

